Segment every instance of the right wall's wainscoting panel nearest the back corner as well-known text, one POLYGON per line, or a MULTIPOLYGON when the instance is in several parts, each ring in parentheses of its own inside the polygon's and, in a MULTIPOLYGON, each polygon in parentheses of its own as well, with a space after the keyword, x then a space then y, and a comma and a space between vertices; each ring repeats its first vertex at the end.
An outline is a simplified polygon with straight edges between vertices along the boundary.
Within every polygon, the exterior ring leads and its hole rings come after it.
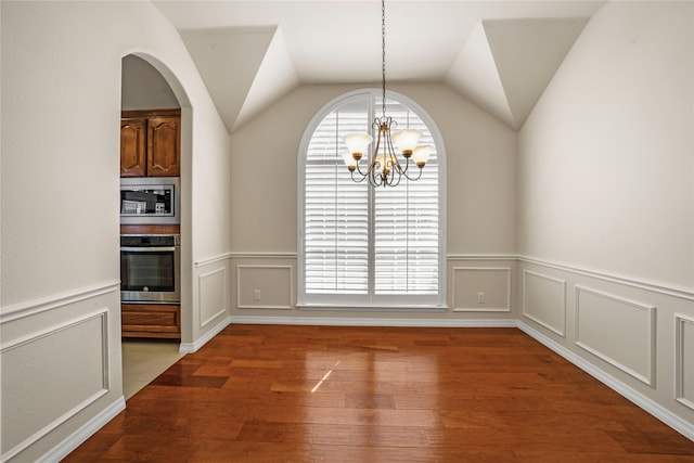
POLYGON ((566 280, 523 271, 523 314, 566 336, 566 280))

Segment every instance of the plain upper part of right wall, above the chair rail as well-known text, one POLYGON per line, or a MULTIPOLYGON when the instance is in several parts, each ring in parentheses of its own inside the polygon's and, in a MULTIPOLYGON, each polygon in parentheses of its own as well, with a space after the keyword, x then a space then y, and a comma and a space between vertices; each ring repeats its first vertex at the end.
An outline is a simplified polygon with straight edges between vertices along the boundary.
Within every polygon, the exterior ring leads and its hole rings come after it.
POLYGON ((692 290, 691 9, 586 26, 518 136, 520 254, 692 290))

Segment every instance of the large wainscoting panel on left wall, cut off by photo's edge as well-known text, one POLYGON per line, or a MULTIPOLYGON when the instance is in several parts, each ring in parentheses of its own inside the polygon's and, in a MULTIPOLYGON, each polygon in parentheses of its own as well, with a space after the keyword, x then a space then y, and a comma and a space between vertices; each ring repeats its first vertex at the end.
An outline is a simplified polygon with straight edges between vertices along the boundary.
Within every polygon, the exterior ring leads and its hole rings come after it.
POLYGON ((107 333, 103 309, 2 345, 2 461, 108 393, 107 333))

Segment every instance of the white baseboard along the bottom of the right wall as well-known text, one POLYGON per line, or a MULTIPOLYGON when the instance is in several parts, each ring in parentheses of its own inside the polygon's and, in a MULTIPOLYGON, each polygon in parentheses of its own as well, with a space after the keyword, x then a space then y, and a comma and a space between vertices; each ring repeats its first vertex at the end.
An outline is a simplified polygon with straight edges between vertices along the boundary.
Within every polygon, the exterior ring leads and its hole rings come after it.
POLYGON ((614 376, 605 373, 603 370, 593 365, 592 363, 581 358, 580 356, 574 353, 573 351, 562 346, 561 344, 544 336, 543 334, 532 329, 528 324, 522 322, 520 320, 517 321, 517 326, 520 331, 526 333, 528 336, 543 344, 548 348, 554 350, 556 353, 558 353, 569 362, 574 363, 576 366, 583 370, 586 373, 590 374, 595 380, 600 381, 611 389, 615 390, 617 394, 632 401, 634 404, 637 404, 641 409, 651 413, 653 416, 657 417, 663 423, 667 424, 678 433, 682 434, 687 439, 694 440, 694 424, 682 420, 681 417, 670 412, 669 410, 663 408, 661 406, 651 400, 643 394, 627 386, 625 383, 620 382, 614 376))

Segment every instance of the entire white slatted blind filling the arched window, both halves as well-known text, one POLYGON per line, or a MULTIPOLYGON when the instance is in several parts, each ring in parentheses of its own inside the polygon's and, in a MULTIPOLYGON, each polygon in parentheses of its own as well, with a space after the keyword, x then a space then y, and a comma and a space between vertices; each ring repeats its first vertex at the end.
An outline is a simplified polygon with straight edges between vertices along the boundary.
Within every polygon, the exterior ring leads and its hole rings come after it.
MULTIPOLYGON (((303 205, 307 295, 438 294, 436 152, 421 179, 403 179, 396 188, 354 182, 342 158, 343 137, 371 131, 381 107, 380 98, 350 100, 327 114, 310 139, 303 205)), ((423 133, 420 144, 435 144, 424 121, 399 102, 387 100, 386 115, 397 121, 395 131, 416 128, 423 133)), ((364 157, 365 169, 370 156, 364 157)), ((416 177, 419 168, 411 164, 408 173, 416 177)))

